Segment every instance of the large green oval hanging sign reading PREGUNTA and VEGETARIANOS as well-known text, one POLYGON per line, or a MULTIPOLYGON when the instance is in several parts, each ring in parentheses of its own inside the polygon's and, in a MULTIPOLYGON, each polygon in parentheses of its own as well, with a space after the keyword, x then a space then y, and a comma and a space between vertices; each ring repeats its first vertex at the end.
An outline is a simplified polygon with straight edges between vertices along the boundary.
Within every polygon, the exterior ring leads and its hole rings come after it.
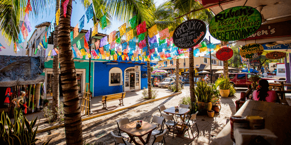
POLYGON ((211 19, 209 32, 211 36, 221 41, 241 40, 256 32, 261 23, 261 14, 255 8, 232 7, 211 19))

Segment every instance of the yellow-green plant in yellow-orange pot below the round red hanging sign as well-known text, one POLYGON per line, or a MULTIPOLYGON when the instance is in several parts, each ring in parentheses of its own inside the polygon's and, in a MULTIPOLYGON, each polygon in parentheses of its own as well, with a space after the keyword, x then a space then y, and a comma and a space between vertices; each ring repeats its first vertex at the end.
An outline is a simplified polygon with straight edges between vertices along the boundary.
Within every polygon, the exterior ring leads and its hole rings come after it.
POLYGON ((217 79, 217 83, 219 85, 220 96, 227 98, 229 95, 229 89, 230 89, 229 78, 221 75, 221 77, 217 79))

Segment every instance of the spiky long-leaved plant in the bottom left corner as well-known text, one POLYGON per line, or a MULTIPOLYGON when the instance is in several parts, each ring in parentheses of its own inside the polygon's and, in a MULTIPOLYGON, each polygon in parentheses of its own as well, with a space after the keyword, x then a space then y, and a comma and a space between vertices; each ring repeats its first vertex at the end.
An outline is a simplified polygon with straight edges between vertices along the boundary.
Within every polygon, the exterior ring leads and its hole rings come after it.
MULTIPOLYGON (((33 131, 33 127, 36 123, 37 117, 28 122, 25 116, 17 117, 19 113, 16 112, 14 115, 15 121, 12 124, 8 115, 4 115, 4 112, 1 114, 0 120, 0 143, 1 145, 35 145, 35 142, 39 139, 35 138, 36 129, 33 131), (8 129, 5 128, 7 125, 8 129)), ((51 139, 49 139, 50 141, 51 139)), ((43 143, 43 145, 48 145, 48 142, 43 143)))

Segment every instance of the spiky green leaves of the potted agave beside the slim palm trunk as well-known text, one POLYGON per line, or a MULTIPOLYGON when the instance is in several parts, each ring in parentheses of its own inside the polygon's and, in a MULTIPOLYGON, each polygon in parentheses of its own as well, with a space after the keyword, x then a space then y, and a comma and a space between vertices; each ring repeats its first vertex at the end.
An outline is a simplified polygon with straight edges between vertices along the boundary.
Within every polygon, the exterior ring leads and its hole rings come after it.
POLYGON ((197 87, 193 89, 197 100, 200 102, 211 102, 211 99, 215 93, 212 89, 214 84, 207 85, 204 81, 197 82, 197 87))

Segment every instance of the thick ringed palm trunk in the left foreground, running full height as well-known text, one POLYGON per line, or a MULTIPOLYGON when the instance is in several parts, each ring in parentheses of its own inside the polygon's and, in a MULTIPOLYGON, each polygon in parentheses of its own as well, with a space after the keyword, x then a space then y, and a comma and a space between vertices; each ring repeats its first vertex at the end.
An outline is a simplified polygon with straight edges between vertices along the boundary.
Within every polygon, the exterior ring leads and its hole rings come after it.
MULTIPOLYGON (((61 0, 61 3, 64 1, 61 0)), ((78 83, 70 39, 71 14, 72 0, 69 0, 66 17, 64 16, 63 7, 61 7, 58 33, 61 81, 64 96, 65 140, 67 145, 83 145, 78 83)))

